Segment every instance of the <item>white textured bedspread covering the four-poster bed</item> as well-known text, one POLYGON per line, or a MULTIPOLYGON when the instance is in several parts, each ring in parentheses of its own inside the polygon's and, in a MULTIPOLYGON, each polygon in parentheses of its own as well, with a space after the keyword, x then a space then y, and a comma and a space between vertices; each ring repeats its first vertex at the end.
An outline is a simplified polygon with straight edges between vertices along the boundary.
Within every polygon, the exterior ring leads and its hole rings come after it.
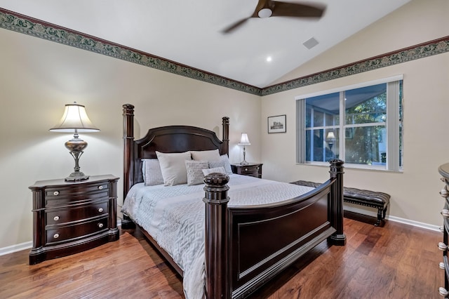
MULTIPOLYGON (((307 193, 314 188, 243 175, 229 175, 228 206, 269 204, 307 193)), ((143 227, 184 272, 187 299, 204 291, 204 185, 134 185, 122 211, 143 227)))

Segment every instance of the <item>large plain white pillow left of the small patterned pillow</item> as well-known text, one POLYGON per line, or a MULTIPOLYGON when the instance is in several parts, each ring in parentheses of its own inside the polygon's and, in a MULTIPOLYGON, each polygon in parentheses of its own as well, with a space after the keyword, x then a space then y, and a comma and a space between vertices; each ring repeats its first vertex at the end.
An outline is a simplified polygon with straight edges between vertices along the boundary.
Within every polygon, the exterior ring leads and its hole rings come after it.
POLYGON ((163 153, 156 152, 161 165, 163 185, 174 186, 187 182, 185 160, 190 160, 190 152, 163 153))

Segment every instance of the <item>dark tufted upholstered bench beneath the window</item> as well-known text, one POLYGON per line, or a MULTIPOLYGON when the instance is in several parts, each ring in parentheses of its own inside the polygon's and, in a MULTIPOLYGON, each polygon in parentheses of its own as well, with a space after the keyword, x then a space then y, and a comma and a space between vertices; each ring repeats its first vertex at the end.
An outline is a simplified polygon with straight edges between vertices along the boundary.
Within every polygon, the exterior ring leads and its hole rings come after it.
MULTIPOLYGON (((296 182, 291 183, 307 187, 317 187, 321 185, 318 182, 309 182, 307 180, 297 180, 296 182)), ((377 208, 377 222, 375 223, 375 226, 379 226, 380 223, 385 220, 387 208, 390 203, 390 195, 384 192, 344 187, 343 201, 351 204, 360 204, 362 206, 377 208)))

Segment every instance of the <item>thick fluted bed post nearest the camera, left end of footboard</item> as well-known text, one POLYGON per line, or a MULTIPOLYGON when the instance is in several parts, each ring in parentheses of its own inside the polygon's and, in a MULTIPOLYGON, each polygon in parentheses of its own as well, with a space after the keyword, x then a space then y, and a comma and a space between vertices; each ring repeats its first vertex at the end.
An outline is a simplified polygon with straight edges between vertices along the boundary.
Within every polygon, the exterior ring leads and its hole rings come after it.
POLYGON ((206 298, 230 298, 229 255, 227 251, 227 203, 229 176, 210 173, 204 178, 206 192, 206 298))

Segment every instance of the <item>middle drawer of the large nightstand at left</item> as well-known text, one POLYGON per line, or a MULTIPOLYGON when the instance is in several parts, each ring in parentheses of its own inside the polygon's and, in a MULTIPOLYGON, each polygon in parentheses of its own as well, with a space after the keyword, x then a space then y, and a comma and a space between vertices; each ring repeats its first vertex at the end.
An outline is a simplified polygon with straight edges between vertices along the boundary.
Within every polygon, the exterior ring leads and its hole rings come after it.
POLYGON ((99 201, 88 206, 49 210, 46 212, 46 225, 58 225, 66 222, 74 222, 100 215, 107 215, 107 201, 99 201))

